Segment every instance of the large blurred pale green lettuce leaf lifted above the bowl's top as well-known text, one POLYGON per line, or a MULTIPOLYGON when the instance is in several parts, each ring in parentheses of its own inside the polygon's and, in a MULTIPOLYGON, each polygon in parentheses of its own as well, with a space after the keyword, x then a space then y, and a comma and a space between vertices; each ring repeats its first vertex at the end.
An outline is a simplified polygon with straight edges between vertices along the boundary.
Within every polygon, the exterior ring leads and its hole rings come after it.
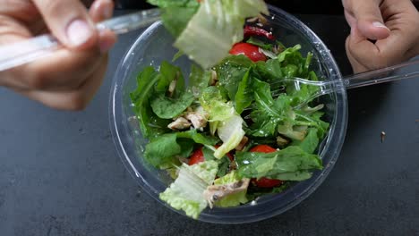
POLYGON ((219 63, 243 39, 244 20, 269 13, 262 0, 205 0, 175 46, 203 68, 219 63))

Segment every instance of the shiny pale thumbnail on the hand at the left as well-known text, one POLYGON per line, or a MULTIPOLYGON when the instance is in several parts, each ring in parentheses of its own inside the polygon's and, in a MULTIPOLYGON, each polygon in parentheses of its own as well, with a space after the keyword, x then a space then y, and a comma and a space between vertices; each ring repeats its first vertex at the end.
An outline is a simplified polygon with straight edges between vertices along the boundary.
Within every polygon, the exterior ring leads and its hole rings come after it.
POLYGON ((73 46, 81 46, 93 36, 86 21, 75 20, 67 28, 67 38, 73 46))

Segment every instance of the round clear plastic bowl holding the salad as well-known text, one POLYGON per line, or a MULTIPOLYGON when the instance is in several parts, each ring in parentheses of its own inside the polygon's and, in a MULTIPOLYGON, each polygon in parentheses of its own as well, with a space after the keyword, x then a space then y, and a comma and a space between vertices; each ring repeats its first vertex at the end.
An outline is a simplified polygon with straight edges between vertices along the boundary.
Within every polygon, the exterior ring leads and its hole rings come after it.
MULTIPOLYGON (((294 16, 269 6, 269 19, 272 32, 285 46, 300 44, 303 54, 314 54, 312 68, 326 80, 338 80, 340 72, 327 46, 321 42, 312 30, 294 16)), ((177 50, 172 46, 174 38, 165 30, 161 22, 156 22, 145 30, 119 64, 113 80, 110 96, 110 125, 116 150, 135 181, 147 191, 151 197, 161 204, 166 203, 158 198, 158 194, 166 190, 172 182, 164 171, 155 169, 142 158, 143 147, 147 140, 141 136, 138 121, 133 114, 133 106, 129 97, 136 86, 139 72, 149 65, 156 68, 162 61, 171 61, 177 50)), ((175 65, 183 69, 184 75, 189 74, 191 62, 186 56, 181 57, 175 65)), ((344 88, 343 86, 341 88, 344 88)), ((340 148, 345 139, 347 101, 346 91, 321 97, 325 104, 326 117, 331 123, 329 135, 319 147, 319 154, 324 164, 321 171, 313 173, 307 181, 298 182, 290 189, 276 195, 264 196, 257 204, 229 208, 213 208, 204 210, 199 220, 210 223, 250 223, 279 215, 300 203, 316 190, 329 174, 335 164, 340 148)), ((170 209, 184 215, 171 206, 170 209)))

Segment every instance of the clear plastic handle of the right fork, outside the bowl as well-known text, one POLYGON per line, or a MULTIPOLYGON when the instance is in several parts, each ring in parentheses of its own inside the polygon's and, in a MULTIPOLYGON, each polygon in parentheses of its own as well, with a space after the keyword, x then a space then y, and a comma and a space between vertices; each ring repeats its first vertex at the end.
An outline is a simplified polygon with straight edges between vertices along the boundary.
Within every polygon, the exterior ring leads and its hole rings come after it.
POLYGON ((406 63, 399 63, 397 65, 370 72, 353 74, 344 77, 342 80, 346 89, 353 89, 389 81, 412 79, 419 76, 417 65, 419 65, 419 59, 407 61, 406 63), (413 69, 413 72, 399 72, 398 74, 393 73, 399 69, 413 69))

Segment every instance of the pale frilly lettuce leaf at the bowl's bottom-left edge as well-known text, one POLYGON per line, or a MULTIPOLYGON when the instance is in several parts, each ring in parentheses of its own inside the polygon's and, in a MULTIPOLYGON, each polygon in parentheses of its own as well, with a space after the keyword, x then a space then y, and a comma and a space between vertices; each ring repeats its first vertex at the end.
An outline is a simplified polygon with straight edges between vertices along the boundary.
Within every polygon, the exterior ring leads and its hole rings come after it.
POLYGON ((167 190, 160 193, 159 198, 168 205, 193 219, 197 219, 201 211, 208 206, 203 198, 203 192, 215 179, 218 164, 215 161, 206 161, 200 164, 180 167, 177 179, 167 190))

